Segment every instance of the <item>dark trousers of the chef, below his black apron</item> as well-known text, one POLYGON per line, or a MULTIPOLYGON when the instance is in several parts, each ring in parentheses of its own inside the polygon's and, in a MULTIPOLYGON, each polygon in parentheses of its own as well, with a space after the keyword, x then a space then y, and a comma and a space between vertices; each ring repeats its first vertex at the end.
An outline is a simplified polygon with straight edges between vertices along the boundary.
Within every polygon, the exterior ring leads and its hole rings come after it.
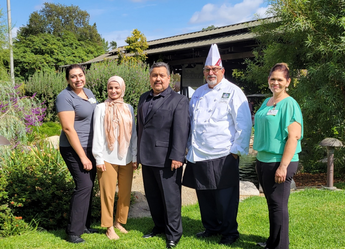
POLYGON ((230 188, 196 190, 205 231, 238 238, 239 183, 230 188))

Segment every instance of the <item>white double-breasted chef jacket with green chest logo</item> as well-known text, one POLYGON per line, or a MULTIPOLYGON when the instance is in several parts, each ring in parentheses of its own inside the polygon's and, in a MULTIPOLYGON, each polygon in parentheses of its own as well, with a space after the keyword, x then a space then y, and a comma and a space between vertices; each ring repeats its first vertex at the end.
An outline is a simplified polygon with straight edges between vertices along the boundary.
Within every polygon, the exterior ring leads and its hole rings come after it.
POLYGON ((230 153, 249 152, 252 117, 242 90, 225 78, 213 89, 200 86, 189 103, 191 129, 187 160, 191 163, 230 153))

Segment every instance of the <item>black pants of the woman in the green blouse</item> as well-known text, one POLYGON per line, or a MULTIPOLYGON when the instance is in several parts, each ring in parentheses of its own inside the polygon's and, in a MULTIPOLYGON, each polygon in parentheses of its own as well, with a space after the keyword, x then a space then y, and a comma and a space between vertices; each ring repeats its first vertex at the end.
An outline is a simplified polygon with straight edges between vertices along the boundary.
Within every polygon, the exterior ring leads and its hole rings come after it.
POLYGON ((280 162, 263 163, 256 161, 256 173, 264 191, 269 218, 269 237, 266 248, 289 248, 289 212, 287 204, 290 196, 292 177, 296 173, 298 162, 290 162, 284 183, 275 183, 274 177, 280 162))

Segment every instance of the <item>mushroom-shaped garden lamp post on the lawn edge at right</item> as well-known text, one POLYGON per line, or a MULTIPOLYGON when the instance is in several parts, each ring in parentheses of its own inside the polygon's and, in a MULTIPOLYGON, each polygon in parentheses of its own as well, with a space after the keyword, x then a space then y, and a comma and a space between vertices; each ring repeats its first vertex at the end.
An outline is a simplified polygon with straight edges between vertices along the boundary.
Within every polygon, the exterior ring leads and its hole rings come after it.
POLYGON ((336 138, 325 138, 319 143, 319 145, 326 146, 327 149, 327 187, 324 188, 334 190, 336 189, 336 187, 333 187, 334 147, 343 147, 343 144, 336 138))

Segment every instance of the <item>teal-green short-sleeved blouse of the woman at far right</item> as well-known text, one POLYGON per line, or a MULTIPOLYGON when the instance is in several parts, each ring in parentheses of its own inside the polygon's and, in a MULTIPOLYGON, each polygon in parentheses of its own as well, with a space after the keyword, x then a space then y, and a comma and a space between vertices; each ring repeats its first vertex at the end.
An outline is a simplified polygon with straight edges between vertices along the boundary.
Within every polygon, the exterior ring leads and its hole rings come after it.
POLYGON ((303 119, 299 105, 292 97, 287 97, 277 103, 275 115, 267 115, 269 110, 274 109, 273 106, 267 106, 268 100, 269 98, 266 98, 255 114, 253 149, 258 152, 256 158, 264 163, 280 162, 287 141, 287 127, 296 121, 302 126, 301 137, 291 160, 296 162, 303 138, 303 119))

